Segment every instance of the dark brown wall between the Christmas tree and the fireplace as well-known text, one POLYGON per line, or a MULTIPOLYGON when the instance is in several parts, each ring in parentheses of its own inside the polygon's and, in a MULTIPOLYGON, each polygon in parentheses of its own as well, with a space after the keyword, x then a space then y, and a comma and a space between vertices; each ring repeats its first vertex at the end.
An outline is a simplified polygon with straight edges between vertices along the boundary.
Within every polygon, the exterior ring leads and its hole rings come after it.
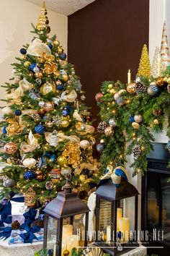
POLYGON ((149 0, 96 0, 68 16, 68 60, 94 118, 102 81, 127 82, 128 69, 135 78, 141 48, 148 45, 148 15, 149 0))

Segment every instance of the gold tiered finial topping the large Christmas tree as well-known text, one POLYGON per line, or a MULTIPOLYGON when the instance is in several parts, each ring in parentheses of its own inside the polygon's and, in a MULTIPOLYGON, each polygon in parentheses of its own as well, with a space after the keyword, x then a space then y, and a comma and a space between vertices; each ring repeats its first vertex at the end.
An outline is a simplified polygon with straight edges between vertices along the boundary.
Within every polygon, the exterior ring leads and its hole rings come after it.
POLYGON ((46 28, 47 33, 50 33, 50 27, 48 26, 49 20, 47 17, 47 9, 45 8, 45 1, 43 1, 42 7, 41 7, 41 13, 40 17, 38 18, 37 22, 37 30, 40 31, 40 33, 43 33, 43 30, 46 28))

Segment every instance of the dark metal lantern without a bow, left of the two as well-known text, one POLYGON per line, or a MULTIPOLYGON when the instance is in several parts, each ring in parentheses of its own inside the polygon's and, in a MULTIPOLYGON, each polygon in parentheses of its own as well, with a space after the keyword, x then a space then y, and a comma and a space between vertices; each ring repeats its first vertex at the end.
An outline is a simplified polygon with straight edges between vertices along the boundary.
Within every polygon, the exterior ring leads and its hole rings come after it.
POLYGON ((53 256, 71 255, 73 247, 86 247, 89 208, 67 181, 63 191, 46 205, 44 249, 53 248, 53 256), (80 218, 85 213, 85 224, 80 218), (81 217, 80 217, 81 216, 81 217))

